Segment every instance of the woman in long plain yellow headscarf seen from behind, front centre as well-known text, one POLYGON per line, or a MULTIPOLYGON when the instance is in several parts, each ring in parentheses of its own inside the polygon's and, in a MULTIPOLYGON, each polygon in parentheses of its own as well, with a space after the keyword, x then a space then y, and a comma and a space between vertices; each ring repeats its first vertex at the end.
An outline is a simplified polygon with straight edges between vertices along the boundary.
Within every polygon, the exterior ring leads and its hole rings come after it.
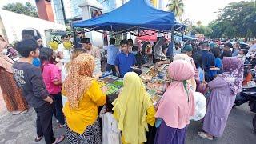
POLYGON ((122 131, 122 143, 147 141, 148 124, 154 126, 154 106, 138 74, 128 72, 124 76, 123 88, 113 102, 113 116, 122 131))

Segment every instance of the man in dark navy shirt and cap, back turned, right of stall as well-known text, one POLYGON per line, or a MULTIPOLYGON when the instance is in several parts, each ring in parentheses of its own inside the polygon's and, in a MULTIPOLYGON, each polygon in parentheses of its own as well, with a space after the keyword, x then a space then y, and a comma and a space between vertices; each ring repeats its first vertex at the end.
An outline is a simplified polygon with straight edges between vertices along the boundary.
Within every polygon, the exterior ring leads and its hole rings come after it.
POLYGON ((206 82, 210 82, 210 68, 215 67, 215 57, 214 54, 210 53, 210 46, 208 42, 200 43, 202 50, 198 51, 198 54, 202 55, 202 64, 203 70, 205 71, 205 80, 206 82))

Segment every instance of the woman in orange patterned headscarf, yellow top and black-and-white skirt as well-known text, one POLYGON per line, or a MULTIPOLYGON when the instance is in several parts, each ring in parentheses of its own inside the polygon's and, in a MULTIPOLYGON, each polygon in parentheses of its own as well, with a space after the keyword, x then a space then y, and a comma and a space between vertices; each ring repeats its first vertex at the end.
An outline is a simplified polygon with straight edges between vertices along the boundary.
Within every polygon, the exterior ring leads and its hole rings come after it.
POLYGON ((72 144, 102 143, 98 106, 106 103, 106 88, 100 88, 92 77, 94 57, 80 54, 71 62, 70 72, 62 86, 67 97, 63 108, 66 116, 66 137, 72 144))

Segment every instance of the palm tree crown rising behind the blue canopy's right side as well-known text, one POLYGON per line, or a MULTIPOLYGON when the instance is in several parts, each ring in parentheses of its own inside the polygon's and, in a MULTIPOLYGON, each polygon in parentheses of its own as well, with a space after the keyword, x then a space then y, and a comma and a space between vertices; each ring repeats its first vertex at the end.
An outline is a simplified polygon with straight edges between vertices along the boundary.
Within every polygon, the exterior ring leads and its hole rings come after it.
POLYGON ((167 4, 168 10, 174 12, 176 17, 182 16, 184 13, 184 3, 182 0, 169 0, 167 4))

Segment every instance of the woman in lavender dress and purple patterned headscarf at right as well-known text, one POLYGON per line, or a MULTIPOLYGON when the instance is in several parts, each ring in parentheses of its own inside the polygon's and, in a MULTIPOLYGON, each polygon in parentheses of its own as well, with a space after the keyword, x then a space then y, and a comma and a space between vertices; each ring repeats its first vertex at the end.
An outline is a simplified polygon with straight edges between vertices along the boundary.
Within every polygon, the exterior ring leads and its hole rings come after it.
POLYGON ((212 90, 203 121, 202 138, 213 140, 222 136, 236 95, 242 90, 243 62, 239 58, 223 58, 224 73, 208 83, 212 90))

